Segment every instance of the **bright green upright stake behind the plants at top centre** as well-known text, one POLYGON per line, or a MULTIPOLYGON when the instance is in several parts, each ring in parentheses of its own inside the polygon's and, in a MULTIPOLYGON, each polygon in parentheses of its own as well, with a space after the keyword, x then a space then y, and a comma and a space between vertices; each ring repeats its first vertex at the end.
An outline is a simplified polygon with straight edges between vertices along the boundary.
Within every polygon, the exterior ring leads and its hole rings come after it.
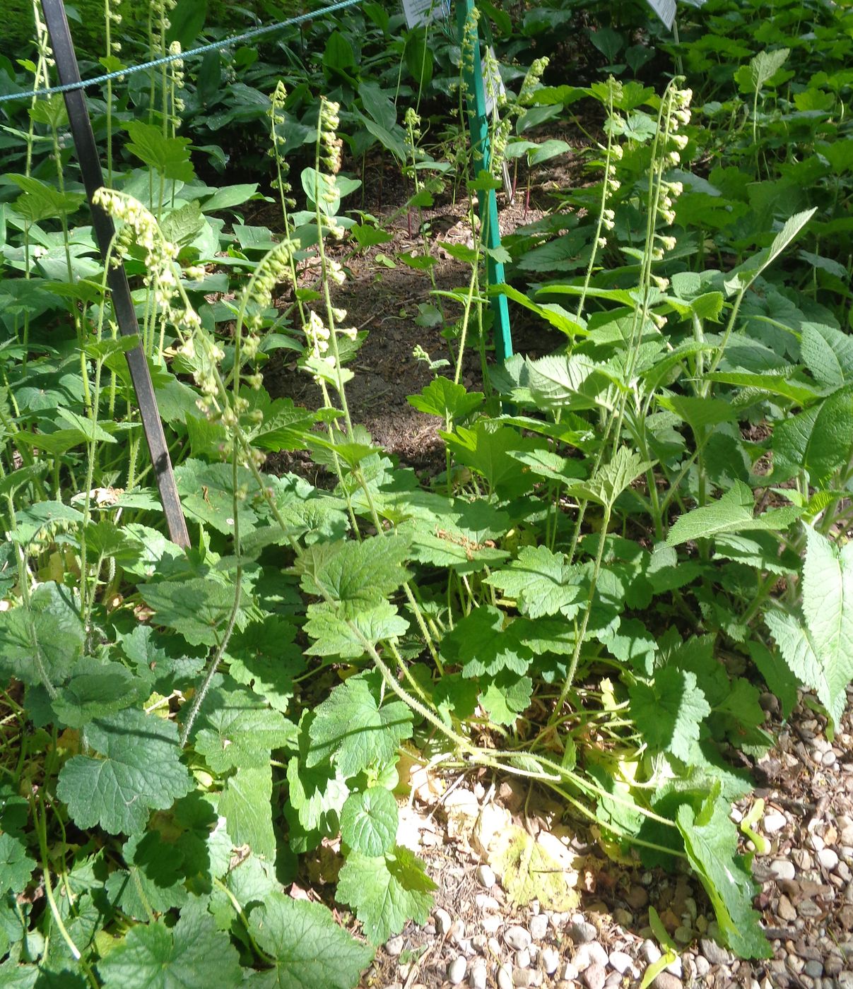
MULTIPOLYGON (((465 23, 474 9, 474 0, 456 0, 456 23, 459 31, 459 44, 464 47, 465 23)), ((474 148, 474 171, 489 170, 491 148, 489 147, 489 121, 486 115, 486 87, 483 82, 483 60, 480 52, 480 35, 474 33, 474 64, 462 65, 465 86, 468 89, 468 124, 471 130, 471 144, 474 148), (472 105, 473 104, 473 105, 472 105)), ((480 190, 480 224, 486 231, 486 247, 490 250, 501 246, 501 227, 498 225, 498 197, 494 189, 480 190)), ((486 256, 486 278, 490 286, 503 285, 504 265, 491 254, 486 256)), ((503 364, 513 356, 513 336, 510 332, 510 309, 507 297, 503 294, 492 297, 493 330, 495 333, 495 354, 503 364)))

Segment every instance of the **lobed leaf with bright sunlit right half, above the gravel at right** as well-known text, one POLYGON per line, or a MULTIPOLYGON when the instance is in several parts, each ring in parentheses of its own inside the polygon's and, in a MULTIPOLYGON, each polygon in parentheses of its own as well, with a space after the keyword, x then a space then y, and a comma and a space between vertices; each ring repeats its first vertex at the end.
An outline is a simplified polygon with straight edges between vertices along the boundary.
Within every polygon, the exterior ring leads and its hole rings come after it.
POLYGON ((664 667, 650 683, 629 687, 628 695, 631 717, 648 747, 689 763, 700 725, 711 714, 696 674, 664 667))

